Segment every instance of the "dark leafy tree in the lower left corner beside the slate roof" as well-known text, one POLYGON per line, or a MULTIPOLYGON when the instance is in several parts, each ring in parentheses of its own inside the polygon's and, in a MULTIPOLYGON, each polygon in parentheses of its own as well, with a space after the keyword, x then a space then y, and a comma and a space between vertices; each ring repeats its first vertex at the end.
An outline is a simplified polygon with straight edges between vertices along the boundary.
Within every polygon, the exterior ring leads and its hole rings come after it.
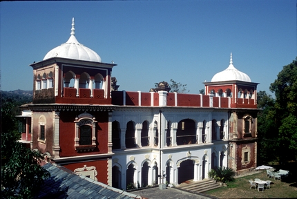
POLYGON ((50 176, 39 165, 43 158, 39 151, 26 149, 19 140, 15 106, 6 102, 1 106, 1 195, 3 198, 33 198, 44 179, 50 176))

